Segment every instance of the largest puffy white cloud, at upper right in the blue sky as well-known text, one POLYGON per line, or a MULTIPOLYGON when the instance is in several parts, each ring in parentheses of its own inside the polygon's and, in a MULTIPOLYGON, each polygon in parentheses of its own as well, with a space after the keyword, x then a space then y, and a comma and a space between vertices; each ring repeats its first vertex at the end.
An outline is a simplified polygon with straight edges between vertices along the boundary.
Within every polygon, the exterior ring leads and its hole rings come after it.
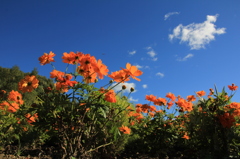
POLYGON ((180 39, 180 43, 188 43, 191 50, 205 48, 206 44, 215 40, 215 35, 226 33, 226 28, 216 28, 214 25, 217 21, 217 17, 218 15, 207 15, 207 20, 203 23, 192 23, 187 26, 179 24, 175 27, 173 33, 169 34, 169 39, 180 39))

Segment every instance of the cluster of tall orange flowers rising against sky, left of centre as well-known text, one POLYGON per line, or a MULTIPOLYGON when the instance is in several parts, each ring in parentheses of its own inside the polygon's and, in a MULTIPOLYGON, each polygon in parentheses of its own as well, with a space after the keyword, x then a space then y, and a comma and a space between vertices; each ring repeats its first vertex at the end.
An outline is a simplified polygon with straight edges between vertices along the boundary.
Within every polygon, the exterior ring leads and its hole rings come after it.
MULTIPOLYGON (((41 57, 39 57, 39 61, 41 65, 45 65, 51 62, 55 62, 53 57, 55 54, 50 52, 49 54, 44 53, 41 57)), ((102 63, 102 61, 96 60, 94 56, 90 54, 83 54, 82 52, 69 52, 63 53, 62 56, 63 62, 77 65, 77 73, 83 76, 83 81, 85 83, 94 83, 97 81, 97 78, 103 79, 109 72, 106 65, 102 63)), ((132 66, 131 64, 126 64, 126 69, 116 71, 108 75, 108 77, 112 78, 115 82, 126 82, 129 81, 130 77, 140 81, 136 76, 142 75, 142 71, 138 70, 136 66, 132 66)), ((57 80, 56 89, 61 90, 62 92, 67 92, 69 86, 74 86, 77 84, 76 81, 70 81, 72 76, 70 74, 65 74, 63 72, 53 70, 51 73, 51 78, 55 78, 57 80)), ((115 93, 113 90, 108 90, 105 94, 105 100, 110 102, 116 102, 114 98, 115 93)))

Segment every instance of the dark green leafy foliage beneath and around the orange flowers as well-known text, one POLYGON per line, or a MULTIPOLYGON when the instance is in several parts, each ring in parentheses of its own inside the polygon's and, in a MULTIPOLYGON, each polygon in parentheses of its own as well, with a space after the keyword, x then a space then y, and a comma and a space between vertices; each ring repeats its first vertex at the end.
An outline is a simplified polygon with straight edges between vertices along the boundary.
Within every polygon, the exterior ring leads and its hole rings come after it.
MULTIPOLYGON (((240 157, 240 103, 231 102, 233 91, 227 96, 224 89, 215 89, 211 98, 199 97, 194 105, 182 98, 183 103, 175 105, 176 116, 167 113, 166 104, 158 106, 161 111, 146 111, 142 105, 141 112, 137 112, 120 94, 116 103, 107 102, 93 84, 78 83, 69 93, 61 93, 54 89, 51 79, 38 75, 36 69, 24 73, 14 66, 0 68, 0 74, 0 89, 6 92, 18 90, 18 82, 25 75, 35 75, 40 81, 37 89, 22 93, 24 104, 18 111, 0 109, 1 151, 11 157, 240 157), (183 112, 180 104, 192 109, 183 112), (29 122, 35 114, 35 122, 29 122), (131 128, 131 134, 120 132, 122 125, 131 128)), ((0 102, 5 100, 0 97, 0 102)))

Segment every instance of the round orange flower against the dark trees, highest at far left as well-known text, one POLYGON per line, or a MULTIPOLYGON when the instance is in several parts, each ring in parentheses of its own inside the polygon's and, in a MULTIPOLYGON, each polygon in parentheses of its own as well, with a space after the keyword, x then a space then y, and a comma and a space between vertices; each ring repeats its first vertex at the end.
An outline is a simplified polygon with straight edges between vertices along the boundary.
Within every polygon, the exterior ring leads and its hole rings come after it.
POLYGON ((18 83, 18 89, 20 91, 22 91, 23 93, 25 92, 32 92, 34 89, 36 89, 38 87, 38 79, 36 78, 36 76, 32 75, 32 76, 25 76, 24 79, 22 79, 19 83, 18 83))

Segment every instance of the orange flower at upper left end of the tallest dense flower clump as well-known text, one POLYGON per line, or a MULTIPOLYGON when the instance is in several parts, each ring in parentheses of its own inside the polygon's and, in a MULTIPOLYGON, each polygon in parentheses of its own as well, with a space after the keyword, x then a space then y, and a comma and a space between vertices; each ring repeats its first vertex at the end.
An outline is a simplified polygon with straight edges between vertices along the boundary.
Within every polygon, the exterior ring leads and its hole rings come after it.
POLYGON ((79 62, 80 58, 83 56, 82 52, 74 53, 74 52, 67 52, 63 53, 62 59, 64 63, 68 64, 76 64, 79 62))

